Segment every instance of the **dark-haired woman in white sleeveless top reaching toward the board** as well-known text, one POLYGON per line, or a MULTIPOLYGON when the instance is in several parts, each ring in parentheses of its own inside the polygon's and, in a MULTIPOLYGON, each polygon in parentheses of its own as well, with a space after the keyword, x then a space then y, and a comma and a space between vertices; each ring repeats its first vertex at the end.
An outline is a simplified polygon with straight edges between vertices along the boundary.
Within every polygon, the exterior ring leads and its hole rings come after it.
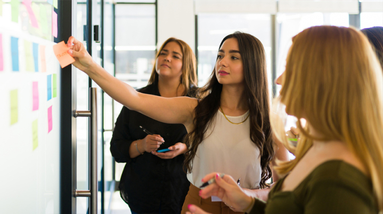
MULTIPOLYGON (((283 146, 278 149, 273 140, 266 56, 257 38, 235 32, 222 40, 215 68, 200 91, 204 95, 201 99, 141 94, 97 65, 74 37, 69 38, 68 47, 68 53, 76 60, 73 65, 114 100, 156 120, 186 126, 189 150, 185 166, 190 173, 191 187, 182 213, 187 212, 189 202, 195 200, 210 213, 233 212, 221 202, 202 200, 198 196, 200 180, 214 171, 237 176, 235 179, 240 179, 240 186, 248 195, 267 197, 266 181, 272 176, 271 162, 276 152, 278 159, 286 160, 287 150, 283 146)), ((158 147, 160 144, 158 142, 158 147)))

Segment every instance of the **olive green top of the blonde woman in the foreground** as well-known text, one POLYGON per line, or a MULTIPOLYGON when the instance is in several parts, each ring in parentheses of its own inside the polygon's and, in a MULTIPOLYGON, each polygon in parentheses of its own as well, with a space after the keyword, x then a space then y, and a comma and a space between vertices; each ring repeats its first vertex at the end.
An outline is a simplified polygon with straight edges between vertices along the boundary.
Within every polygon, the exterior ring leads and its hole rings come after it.
POLYGON ((378 214, 371 180, 344 161, 322 163, 293 191, 280 191, 285 178, 249 214, 378 214))

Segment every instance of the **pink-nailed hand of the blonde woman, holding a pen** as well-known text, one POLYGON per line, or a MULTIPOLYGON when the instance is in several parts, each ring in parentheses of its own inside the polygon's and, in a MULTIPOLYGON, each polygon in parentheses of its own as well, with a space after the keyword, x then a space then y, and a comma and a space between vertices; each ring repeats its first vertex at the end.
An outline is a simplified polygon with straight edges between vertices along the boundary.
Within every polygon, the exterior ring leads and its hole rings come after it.
POLYGON ((252 203, 251 197, 244 193, 231 176, 225 175, 221 178, 218 173, 213 172, 206 175, 202 182, 207 182, 211 178, 215 178, 215 183, 199 191, 199 196, 203 199, 216 196, 235 212, 245 211, 252 203))

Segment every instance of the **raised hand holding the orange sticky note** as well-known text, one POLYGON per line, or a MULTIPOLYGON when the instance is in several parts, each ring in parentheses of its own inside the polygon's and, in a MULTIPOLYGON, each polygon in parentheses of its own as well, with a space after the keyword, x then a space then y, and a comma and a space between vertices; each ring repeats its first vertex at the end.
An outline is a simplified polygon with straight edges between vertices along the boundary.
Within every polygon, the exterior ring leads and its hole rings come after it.
POLYGON ((87 72, 90 67, 96 64, 85 49, 84 44, 73 36, 69 37, 67 45, 69 47, 68 53, 76 60, 72 63, 76 68, 87 72))

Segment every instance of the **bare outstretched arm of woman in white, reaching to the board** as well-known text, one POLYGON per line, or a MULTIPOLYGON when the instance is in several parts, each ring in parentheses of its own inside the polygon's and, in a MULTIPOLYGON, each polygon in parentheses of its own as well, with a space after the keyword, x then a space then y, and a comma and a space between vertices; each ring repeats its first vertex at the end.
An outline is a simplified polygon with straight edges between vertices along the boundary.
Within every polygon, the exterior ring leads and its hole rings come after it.
POLYGON ((196 99, 163 98, 139 93, 95 63, 84 45, 73 36, 68 39, 68 47, 68 53, 76 60, 72 64, 85 72, 115 101, 161 122, 182 123, 188 131, 191 130, 193 110, 197 105, 196 99))

